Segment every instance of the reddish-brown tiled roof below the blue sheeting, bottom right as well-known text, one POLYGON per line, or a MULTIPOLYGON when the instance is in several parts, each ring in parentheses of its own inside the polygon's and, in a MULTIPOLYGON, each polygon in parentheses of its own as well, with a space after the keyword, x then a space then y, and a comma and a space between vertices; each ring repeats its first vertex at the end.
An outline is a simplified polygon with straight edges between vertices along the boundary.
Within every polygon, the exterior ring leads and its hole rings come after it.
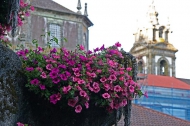
MULTIPOLYGON (((124 126, 123 118, 118 126, 124 126)), ((190 126, 190 122, 133 104, 130 126, 190 126)))

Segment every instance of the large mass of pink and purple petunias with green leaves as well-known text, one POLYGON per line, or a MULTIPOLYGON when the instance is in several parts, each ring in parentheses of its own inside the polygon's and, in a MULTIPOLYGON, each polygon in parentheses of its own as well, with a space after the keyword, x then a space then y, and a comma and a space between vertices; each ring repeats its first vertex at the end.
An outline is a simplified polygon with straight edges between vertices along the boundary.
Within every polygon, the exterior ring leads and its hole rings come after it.
POLYGON ((66 48, 20 50, 24 74, 30 91, 57 104, 64 99, 76 113, 90 105, 112 111, 127 105, 134 96, 142 95, 140 86, 132 79, 132 68, 120 61, 124 58, 121 44, 93 51, 77 46, 75 51, 66 48))

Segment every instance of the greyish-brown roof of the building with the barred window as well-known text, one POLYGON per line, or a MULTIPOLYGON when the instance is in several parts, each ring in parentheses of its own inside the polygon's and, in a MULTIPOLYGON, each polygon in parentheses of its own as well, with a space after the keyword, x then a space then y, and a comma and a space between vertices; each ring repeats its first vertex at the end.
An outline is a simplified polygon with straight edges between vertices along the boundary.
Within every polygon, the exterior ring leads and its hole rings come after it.
POLYGON ((77 14, 52 0, 31 0, 31 5, 33 5, 34 7, 42 8, 42 9, 77 14))

